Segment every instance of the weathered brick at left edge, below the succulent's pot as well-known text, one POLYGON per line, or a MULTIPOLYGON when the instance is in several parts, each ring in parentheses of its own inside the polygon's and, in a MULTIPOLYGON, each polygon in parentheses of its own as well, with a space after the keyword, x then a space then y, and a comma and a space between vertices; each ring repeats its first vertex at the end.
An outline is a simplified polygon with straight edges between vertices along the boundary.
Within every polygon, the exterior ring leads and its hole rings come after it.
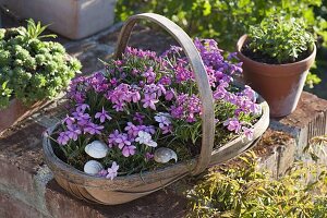
POLYGON ((40 134, 44 128, 26 128, 0 137, 0 183, 26 193, 34 192, 34 174, 43 165, 40 134))

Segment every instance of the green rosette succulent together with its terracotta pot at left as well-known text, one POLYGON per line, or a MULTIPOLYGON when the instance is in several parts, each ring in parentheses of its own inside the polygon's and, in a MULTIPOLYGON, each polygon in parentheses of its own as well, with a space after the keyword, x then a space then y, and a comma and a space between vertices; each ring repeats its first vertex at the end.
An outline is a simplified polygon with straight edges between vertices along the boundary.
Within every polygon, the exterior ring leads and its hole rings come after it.
POLYGON ((0 29, 0 132, 65 88, 81 69, 59 43, 43 41, 46 26, 0 29))

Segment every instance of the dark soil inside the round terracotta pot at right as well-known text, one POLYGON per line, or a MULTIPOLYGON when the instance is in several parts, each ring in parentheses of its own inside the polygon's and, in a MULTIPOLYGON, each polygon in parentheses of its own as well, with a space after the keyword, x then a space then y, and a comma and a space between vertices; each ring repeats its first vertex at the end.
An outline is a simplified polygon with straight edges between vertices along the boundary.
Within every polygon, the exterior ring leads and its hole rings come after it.
POLYGON ((269 63, 269 64, 286 64, 286 63, 294 63, 294 62, 299 62, 301 60, 304 60, 305 58, 307 58, 312 52, 308 52, 307 51, 304 51, 302 52, 299 58, 296 58, 295 60, 293 61, 282 61, 282 62, 279 62, 277 59, 275 58, 271 58, 261 51, 253 51, 250 46, 249 46, 249 40, 245 41, 245 44, 243 45, 242 47, 242 50, 241 52, 246 56, 247 58, 250 58, 251 60, 254 60, 254 61, 257 61, 257 62, 261 62, 261 63, 269 63))

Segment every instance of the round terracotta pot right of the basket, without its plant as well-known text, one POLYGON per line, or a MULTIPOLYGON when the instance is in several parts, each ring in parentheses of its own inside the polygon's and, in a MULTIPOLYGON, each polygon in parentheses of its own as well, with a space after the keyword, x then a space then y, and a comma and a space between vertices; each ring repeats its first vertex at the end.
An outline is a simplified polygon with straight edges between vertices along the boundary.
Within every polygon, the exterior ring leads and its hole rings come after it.
POLYGON ((316 47, 306 59, 299 62, 268 64, 251 60, 241 52, 246 38, 243 35, 237 45, 238 57, 243 62, 245 83, 267 100, 270 117, 290 114, 296 108, 308 69, 316 57, 316 47))

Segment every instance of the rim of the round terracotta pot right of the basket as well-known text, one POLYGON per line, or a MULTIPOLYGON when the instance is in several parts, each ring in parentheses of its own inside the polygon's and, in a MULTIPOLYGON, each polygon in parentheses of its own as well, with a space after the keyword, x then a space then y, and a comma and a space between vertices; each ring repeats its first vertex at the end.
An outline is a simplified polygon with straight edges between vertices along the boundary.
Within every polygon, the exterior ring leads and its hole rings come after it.
POLYGON ((246 38, 247 38, 246 34, 242 35, 239 38, 238 44, 237 44, 237 52, 238 52, 238 56, 241 57, 241 59, 252 62, 253 64, 265 65, 265 66, 269 66, 269 68, 294 68, 295 65, 305 64, 306 62, 315 60, 317 48, 316 48, 316 45, 313 44, 314 48, 313 48, 312 53, 303 60, 300 60, 300 61, 296 61, 293 63, 281 63, 281 64, 258 62, 258 61, 252 60, 251 58, 249 58, 242 53, 241 49, 243 48, 243 45, 244 45, 246 38))

